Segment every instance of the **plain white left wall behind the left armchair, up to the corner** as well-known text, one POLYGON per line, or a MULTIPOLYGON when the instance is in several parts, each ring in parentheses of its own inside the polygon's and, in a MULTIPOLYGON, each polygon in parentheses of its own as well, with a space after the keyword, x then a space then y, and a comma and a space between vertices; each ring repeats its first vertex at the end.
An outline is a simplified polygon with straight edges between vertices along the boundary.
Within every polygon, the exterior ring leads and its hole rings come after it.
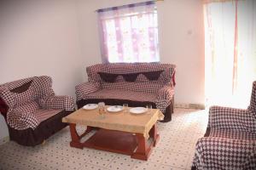
MULTIPOLYGON (((8 2, 8 1, 5 1, 8 2)), ((83 81, 77 2, 14 1, 0 5, 0 84, 49 75, 56 94, 74 96, 83 81)), ((8 136, 0 117, 0 139, 8 136)))

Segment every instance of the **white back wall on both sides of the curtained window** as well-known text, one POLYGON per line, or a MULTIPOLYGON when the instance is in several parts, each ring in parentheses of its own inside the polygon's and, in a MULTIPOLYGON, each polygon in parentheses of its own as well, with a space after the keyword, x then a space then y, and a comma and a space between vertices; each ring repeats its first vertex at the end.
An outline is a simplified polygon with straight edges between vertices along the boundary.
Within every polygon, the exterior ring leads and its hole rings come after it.
MULTIPOLYGON (((144 0, 79 0, 79 28, 84 65, 101 62, 96 9, 144 0)), ((204 28, 201 0, 157 2, 160 62, 177 65, 175 102, 204 105, 204 28)))

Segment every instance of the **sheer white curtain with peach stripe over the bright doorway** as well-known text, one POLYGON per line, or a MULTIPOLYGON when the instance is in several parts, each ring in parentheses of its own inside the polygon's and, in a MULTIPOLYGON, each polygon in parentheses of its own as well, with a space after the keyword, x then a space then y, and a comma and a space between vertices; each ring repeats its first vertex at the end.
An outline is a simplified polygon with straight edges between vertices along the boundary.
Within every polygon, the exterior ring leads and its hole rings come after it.
POLYGON ((256 80, 256 1, 207 0, 204 14, 207 104, 245 107, 256 80))

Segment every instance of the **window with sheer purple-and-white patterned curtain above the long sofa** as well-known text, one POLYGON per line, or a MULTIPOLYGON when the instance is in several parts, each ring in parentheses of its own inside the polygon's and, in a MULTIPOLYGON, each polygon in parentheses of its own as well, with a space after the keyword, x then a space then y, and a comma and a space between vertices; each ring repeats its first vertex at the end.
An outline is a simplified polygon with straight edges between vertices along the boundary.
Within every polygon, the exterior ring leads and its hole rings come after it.
POLYGON ((97 12, 104 62, 159 62, 154 2, 104 8, 97 12))

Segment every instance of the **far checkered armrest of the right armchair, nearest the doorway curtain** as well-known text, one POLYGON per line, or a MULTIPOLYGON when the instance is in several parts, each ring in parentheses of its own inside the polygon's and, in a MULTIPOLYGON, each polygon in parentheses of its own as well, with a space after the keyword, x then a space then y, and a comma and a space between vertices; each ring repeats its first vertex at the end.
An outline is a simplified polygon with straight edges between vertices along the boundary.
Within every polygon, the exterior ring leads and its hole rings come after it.
POLYGON ((212 106, 209 111, 208 127, 256 133, 256 119, 249 110, 212 106))

